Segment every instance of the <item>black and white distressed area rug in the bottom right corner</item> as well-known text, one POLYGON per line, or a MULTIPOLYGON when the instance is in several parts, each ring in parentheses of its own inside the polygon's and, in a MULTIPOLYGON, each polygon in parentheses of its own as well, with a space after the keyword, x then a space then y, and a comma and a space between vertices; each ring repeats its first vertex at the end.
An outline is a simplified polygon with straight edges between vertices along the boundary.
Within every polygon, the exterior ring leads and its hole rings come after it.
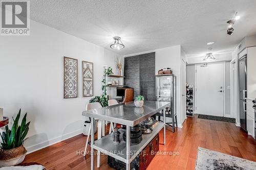
POLYGON ((255 170, 256 162, 198 147, 196 170, 255 170))

